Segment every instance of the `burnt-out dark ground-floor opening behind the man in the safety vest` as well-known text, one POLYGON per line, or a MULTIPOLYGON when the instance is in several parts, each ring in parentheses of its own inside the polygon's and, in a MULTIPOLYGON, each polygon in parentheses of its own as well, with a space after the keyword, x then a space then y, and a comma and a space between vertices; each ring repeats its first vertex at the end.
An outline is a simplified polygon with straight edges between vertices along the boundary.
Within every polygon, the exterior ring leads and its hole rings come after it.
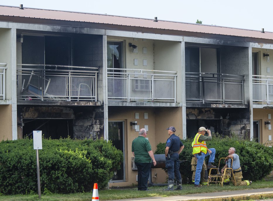
POLYGON ((194 138, 194 136, 196 135, 196 133, 198 132, 198 129, 202 126, 204 126, 205 128, 208 128, 209 130, 211 130, 211 133, 214 132, 218 132, 218 133, 222 133, 221 132, 221 120, 219 119, 187 119, 187 137, 188 138, 194 138))

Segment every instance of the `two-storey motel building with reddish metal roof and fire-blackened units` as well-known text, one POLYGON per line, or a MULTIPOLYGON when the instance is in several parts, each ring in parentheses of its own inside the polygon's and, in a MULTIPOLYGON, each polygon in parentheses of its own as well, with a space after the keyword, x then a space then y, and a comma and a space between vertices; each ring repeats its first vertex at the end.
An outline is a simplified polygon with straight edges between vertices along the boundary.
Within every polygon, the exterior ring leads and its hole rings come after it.
POLYGON ((153 151, 170 126, 181 139, 204 126, 272 143, 272 32, 23 5, 0 13, 1 140, 33 130, 111 140, 124 162, 110 186, 136 183, 141 128, 153 151))

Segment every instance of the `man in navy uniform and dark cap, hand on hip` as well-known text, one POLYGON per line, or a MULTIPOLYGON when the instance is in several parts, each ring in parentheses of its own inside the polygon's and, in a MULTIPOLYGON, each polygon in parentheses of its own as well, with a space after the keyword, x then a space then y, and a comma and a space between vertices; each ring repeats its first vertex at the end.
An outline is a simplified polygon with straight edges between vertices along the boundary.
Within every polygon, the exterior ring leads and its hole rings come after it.
POLYGON ((167 190, 173 190, 174 178, 176 177, 177 188, 175 190, 182 190, 182 179, 179 171, 179 154, 184 148, 180 138, 175 135, 175 127, 171 126, 167 128, 170 137, 167 139, 165 156, 165 167, 168 170, 168 188, 167 190))

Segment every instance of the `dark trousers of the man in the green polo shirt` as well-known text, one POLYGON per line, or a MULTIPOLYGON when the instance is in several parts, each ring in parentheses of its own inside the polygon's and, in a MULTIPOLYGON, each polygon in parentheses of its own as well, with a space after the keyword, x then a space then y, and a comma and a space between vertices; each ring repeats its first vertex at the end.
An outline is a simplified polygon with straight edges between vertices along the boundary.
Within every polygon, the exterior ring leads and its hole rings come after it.
POLYGON ((147 190, 152 163, 135 162, 137 167, 137 190, 147 190))

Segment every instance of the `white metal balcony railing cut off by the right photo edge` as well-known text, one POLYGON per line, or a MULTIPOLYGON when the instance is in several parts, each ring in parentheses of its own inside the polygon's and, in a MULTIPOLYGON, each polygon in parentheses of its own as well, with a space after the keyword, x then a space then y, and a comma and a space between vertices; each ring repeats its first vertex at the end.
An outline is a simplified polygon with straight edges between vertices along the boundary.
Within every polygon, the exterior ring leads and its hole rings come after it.
POLYGON ((253 104, 273 104, 273 76, 252 75, 253 104))

